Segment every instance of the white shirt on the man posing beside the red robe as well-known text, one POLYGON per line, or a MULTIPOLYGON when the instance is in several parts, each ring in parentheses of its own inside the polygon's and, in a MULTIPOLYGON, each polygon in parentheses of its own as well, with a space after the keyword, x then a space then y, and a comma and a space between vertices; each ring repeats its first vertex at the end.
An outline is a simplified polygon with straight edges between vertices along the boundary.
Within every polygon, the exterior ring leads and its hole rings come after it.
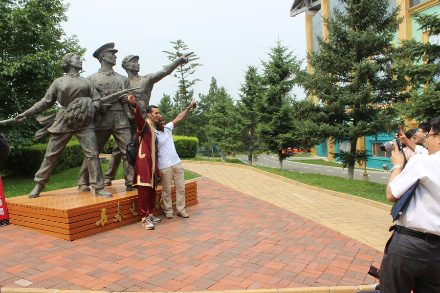
POLYGON ((168 168, 181 162, 174 146, 173 129, 173 122, 165 125, 164 132, 154 129, 157 137, 159 169, 168 168))

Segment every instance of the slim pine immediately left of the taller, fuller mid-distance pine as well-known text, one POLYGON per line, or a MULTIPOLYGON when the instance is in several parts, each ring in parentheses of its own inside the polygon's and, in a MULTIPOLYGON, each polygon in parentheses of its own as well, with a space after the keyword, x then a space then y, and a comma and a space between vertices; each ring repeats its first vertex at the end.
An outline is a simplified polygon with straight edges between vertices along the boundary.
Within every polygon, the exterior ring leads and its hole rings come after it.
POLYGON ((247 147, 247 160, 252 162, 252 158, 257 155, 258 137, 256 134, 258 125, 258 112, 255 102, 258 95, 261 94, 261 77, 258 74, 258 68, 250 65, 247 67, 244 76, 244 84, 240 88, 240 101, 238 104, 239 114, 241 116, 243 136, 240 138, 243 147, 247 147))

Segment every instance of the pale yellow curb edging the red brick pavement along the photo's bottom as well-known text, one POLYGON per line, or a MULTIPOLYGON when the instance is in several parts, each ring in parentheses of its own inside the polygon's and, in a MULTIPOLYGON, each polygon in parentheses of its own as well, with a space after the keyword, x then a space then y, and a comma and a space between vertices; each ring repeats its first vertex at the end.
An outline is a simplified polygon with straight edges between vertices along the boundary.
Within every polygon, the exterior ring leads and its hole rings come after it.
MULTIPOLYGON (((254 290, 224 290, 224 291, 193 291, 179 293, 356 293, 374 290, 375 285, 361 286, 331 286, 282 289, 254 289, 254 290)), ((1 288, 1 293, 109 293, 108 291, 61 290, 61 289, 34 289, 34 288, 1 288)), ((113 291, 112 293, 134 293, 127 291, 113 291)), ((174 292, 154 292, 174 293, 174 292)))

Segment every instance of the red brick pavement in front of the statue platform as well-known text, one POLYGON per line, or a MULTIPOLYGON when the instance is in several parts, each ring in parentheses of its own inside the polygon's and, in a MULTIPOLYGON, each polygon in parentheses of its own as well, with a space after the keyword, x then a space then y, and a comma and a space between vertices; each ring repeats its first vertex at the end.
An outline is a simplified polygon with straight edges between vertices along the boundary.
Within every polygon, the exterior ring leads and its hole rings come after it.
POLYGON ((0 228, 0 285, 169 292, 374 283, 367 272, 382 252, 210 179, 197 181, 191 217, 163 219, 155 230, 135 223, 68 242, 0 228))

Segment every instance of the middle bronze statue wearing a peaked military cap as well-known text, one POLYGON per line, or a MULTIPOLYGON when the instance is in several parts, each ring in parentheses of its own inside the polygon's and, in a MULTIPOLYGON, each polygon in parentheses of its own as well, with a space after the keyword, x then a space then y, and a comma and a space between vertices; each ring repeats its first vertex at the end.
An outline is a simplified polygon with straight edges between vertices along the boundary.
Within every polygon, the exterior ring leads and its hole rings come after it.
MULTIPOLYGON (((136 188, 132 187, 134 169, 127 163, 125 156, 126 145, 131 138, 129 117, 132 118, 132 112, 129 108, 128 95, 126 94, 130 89, 130 81, 127 77, 113 71, 113 66, 116 65, 115 53, 117 52, 118 50, 114 49, 114 43, 107 43, 99 47, 93 53, 93 57, 98 59, 99 63, 101 63, 101 68, 97 73, 90 75, 87 79, 95 86, 101 96, 102 102, 99 110, 100 117, 98 117, 98 121, 95 123, 98 150, 101 152, 109 140, 110 135, 113 135, 116 146, 118 146, 123 153, 122 161, 125 185, 126 190, 130 191, 136 190, 136 188), (110 98, 110 96, 116 96, 118 99, 103 102, 106 101, 106 97, 110 98)), ((88 168, 88 162, 85 160, 77 181, 80 191, 90 190, 88 188, 90 184, 88 168)), ((113 171, 116 172, 116 170, 113 171)))

